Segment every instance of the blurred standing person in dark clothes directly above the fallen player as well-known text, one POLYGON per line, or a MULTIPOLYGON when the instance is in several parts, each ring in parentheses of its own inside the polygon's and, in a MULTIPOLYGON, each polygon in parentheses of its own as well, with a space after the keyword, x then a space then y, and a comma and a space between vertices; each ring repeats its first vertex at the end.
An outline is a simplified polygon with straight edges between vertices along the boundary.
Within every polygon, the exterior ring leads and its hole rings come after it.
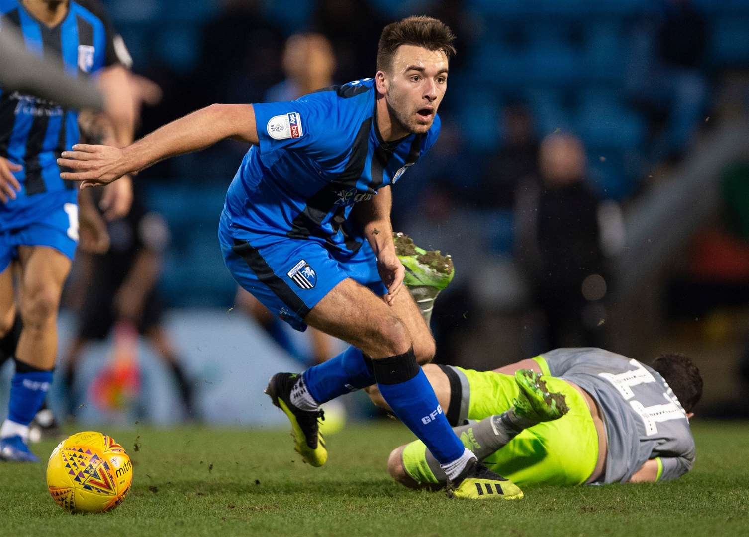
POLYGON ((518 260, 545 317, 542 348, 601 346, 607 291, 598 224, 600 201, 585 182, 586 153, 569 134, 547 136, 542 184, 518 190, 518 260))

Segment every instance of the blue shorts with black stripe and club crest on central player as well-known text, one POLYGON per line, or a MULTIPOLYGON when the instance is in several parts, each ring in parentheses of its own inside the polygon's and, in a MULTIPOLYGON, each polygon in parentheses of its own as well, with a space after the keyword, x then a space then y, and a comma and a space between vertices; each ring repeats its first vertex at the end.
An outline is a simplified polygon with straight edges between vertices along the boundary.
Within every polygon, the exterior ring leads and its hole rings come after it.
POLYGON ((306 330, 304 318, 322 297, 346 278, 377 295, 387 288, 377 272, 377 257, 366 241, 351 255, 331 252, 314 240, 279 238, 255 247, 219 224, 219 243, 231 276, 252 296, 291 324, 306 330))

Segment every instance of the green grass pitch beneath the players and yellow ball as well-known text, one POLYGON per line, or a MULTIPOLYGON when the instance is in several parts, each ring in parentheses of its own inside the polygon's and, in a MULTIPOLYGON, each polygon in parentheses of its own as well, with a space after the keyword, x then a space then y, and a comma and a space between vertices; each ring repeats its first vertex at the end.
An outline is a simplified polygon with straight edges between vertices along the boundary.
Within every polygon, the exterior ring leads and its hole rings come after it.
MULTIPOLYGON (((696 422, 697 464, 676 482, 525 487, 525 499, 514 502, 448 500, 395 485, 386 458, 410 440, 395 422, 355 425, 330 437, 330 459, 319 469, 302 463, 287 431, 103 432, 135 464, 133 490, 122 506, 103 515, 68 515, 46 491, 46 461, 0 463, 2 535, 749 535, 745 422, 696 422)), ((54 446, 47 441, 34 451, 46 459, 54 446)))

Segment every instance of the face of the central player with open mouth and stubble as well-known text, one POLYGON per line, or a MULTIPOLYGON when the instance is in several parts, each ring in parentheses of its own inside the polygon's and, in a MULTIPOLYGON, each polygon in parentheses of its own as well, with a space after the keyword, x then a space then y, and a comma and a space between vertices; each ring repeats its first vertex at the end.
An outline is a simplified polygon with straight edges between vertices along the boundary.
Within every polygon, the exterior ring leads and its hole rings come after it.
POLYGON ((447 56, 441 50, 401 45, 390 71, 385 98, 391 115, 407 132, 425 133, 445 96, 447 56))

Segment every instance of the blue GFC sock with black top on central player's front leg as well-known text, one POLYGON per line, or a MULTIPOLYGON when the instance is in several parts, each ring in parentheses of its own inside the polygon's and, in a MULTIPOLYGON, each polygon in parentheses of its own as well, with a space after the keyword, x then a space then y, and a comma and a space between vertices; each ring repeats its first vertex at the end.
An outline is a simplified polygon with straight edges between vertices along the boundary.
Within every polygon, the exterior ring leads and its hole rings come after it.
POLYGON ((373 359, 377 386, 398 419, 426 444, 440 464, 461 458, 465 450, 416 363, 413 348, 398 356, 373 359))

